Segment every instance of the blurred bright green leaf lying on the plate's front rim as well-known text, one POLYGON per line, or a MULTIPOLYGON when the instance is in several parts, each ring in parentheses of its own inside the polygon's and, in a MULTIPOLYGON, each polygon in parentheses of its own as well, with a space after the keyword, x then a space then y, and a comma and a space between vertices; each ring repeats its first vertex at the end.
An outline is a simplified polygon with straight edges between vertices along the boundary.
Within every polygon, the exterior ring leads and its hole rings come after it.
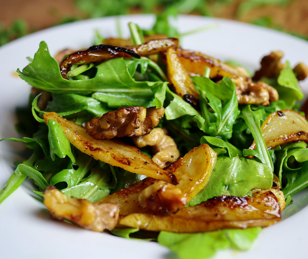
POLYGON ((249 249, 260 231, 260 227, 192 234, 161 231, 157 241, 181 259, 205 259, 213 256, 219 249, 249 249))

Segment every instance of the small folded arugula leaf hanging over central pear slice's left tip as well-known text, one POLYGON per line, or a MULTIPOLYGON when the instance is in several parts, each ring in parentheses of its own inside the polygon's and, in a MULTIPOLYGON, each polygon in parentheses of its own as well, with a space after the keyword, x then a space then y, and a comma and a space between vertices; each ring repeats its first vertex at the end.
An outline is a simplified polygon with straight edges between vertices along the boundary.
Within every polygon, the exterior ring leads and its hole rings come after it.
POLYGON ((53 121, 47 121, 48 126, 48 141, 50 145, 50 156, 55 160, 55 155, 60 158, 68 156, 72 162, 75 162, 75 157, 71 150, 71 143, 65 137, 60 125, 53 121))

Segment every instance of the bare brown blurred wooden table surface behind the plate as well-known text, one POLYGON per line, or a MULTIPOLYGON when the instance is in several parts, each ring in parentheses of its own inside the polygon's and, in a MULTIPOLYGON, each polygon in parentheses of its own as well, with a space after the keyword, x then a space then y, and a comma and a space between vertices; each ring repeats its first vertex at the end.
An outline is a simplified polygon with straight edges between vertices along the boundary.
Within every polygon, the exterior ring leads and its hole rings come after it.
MULTIPOLYGON (((219 8, 211 4, 210 10, 213 16, 245 22, 270 17, 275 27, 308 37, 307 0, 292 0, 286 5, 266 5, 238 17, 237 7, 243 1, 234 0, 219 8)), ((87 15, 76 7, 74 0, 0 0, 0 22, 5 27, 11 26, 16 19, 22 19, 29 25, 29 31, 35 31, 58 24, 69 17, 80 19, 87 18, 87 15)))

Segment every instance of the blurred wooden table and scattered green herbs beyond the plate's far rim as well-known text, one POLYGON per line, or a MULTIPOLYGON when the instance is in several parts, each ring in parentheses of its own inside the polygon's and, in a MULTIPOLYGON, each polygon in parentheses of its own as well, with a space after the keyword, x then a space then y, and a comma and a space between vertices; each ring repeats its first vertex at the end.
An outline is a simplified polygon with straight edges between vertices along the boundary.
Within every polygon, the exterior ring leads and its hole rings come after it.
POLYGON ((0 0, 0 6, 0 45, 58 24, 136 13, 227 18, 308 39, 307 0, 0 0))

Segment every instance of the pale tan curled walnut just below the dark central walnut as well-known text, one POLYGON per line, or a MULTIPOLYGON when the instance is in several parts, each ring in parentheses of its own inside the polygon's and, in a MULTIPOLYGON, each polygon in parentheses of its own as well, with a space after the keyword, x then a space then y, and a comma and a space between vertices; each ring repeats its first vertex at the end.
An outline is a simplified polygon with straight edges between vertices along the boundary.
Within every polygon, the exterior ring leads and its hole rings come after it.
POLYGON ((139 148, 147 145, 152 146, 153 153, 155 153, 152 160, 161 168, 180 157, 176 143, 161 128, 153 129, 149 134, 134 139, 134 142, 139 148))

